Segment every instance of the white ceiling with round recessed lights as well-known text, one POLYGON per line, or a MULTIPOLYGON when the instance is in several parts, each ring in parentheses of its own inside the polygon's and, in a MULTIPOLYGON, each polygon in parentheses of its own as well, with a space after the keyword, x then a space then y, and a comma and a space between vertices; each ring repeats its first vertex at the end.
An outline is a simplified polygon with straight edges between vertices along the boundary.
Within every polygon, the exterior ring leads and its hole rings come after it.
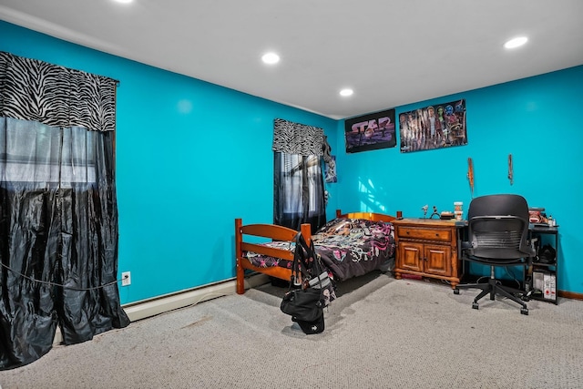
POLYGON ((583 0, 0 0, 0 19, 329 118, 583 64, 583 0))

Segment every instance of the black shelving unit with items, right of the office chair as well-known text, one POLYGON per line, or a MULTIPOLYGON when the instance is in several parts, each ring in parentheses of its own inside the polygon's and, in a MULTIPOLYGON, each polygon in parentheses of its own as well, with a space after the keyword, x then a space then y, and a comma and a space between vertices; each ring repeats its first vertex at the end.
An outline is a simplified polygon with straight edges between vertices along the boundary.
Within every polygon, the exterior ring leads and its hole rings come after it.
POLYGON ((558 304, 558 226, 531 225, 528 238, 537 249, 537 256, 530 261, 528 269, 528 287, 532 291, 530 298, 558 304), (555 258, 552 261, 540 260, 539 254, 545 244, 550 244, 555 249, 555 258), (549 287, 549 284, 554 287, 549 287))

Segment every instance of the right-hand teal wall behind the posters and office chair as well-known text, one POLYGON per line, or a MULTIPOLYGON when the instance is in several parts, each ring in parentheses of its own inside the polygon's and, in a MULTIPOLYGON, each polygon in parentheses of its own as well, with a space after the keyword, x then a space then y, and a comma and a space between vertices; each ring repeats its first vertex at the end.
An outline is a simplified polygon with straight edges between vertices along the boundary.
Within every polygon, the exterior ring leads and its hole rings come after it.
POLYGON ((345 210, 403 210, 405 217, 415 218, 423 216, 425 204, 441 211, 464 201, 467 210, 472 199, 466 178, 471 157, 474 196, 517 193, 529 206, 544 207, 557 219, 557 287, 583 292, 583 235, 578 230, 583 212, 578 209, 583 199, 583 67, 396 107, 396 116, 460 98, 466 103, 467 146, 346 154, 339 122, 334 148, 338 204, 345 210), (514 185, 507 179, 508 154, 513 156, 514 185))

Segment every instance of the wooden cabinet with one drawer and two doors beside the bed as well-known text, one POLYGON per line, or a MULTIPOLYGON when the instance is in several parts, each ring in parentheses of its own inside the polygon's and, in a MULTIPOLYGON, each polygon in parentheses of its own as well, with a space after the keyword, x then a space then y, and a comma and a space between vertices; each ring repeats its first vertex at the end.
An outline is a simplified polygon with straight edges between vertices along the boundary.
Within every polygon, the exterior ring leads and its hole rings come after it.
POLYGON ((402 219, 392 221, 397 252, 394 274, 437 278, 451 283, 460 281, 458 231, 455 220, 402 219))

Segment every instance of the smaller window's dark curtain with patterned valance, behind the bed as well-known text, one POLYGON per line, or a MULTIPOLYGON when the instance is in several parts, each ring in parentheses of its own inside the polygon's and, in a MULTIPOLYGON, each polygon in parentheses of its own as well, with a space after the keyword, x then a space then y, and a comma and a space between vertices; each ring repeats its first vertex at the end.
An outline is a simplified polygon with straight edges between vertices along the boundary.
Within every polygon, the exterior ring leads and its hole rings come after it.
POLYGON ((273 127, 273 223, 312 232, 326 222, 323 159, 330 147, 322 128, 275 119, 273 127))

